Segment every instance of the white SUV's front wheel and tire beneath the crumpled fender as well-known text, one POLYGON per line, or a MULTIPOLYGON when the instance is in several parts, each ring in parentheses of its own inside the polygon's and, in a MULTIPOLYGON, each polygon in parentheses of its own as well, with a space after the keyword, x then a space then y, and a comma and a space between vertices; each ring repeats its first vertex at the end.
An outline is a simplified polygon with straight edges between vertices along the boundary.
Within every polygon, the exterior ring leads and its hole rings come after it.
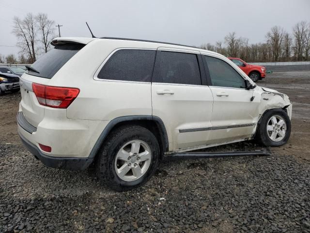
POLYGON ((267 111, 257 127, 256 138, 267 147, 282 146, 291 135, 291 120, 283 109, 267 111))

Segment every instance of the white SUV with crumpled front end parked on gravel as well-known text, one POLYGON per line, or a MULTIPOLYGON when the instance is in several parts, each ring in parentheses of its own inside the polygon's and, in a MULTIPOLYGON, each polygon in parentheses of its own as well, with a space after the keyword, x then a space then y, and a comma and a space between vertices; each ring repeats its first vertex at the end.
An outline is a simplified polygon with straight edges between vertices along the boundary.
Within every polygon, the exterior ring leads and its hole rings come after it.
POLYGON ((86 169, 116 190, 163 156, 254 137, 286 143, 288 97, 207 50, 121 38, 55 38, 20 79, 18 133, 46 166, 86 169))

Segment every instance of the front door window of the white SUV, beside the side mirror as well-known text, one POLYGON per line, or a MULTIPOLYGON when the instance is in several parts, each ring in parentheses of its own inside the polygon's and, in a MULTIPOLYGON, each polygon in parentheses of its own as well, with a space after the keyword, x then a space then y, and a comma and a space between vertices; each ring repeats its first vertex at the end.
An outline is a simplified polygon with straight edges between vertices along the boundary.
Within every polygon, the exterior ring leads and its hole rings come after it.
POLYGON ((228 63, 209 56, 204 56, 208 65, 213 86, 246 88, 245 80, 228 63))

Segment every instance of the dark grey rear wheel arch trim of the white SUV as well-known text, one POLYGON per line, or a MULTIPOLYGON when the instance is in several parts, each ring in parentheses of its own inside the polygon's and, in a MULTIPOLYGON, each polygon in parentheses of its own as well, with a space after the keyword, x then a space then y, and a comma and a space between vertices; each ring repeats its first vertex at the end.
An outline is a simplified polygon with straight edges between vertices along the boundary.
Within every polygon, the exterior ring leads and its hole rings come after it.
POLYGON ((160 146, 160 156, 163 156, 164 152, 169 150, 169 141, 168 135, 166 131, 166 127, 163 121, 158 116, 147 116, 147 115, 136 115, 136 116, 120 116, 117 117, 109 122, 109 124, 105 127, 105 129, 100 134, 99 138, 97 139, 93 149, 89 155, 89 158, 94 159, 103 145, 105 140, 107 139, 109 133, 113 130, 117 129, 123 125, 140 125, 152 133, 154 133, 156 139, 158 140, 158 144, 160 146))

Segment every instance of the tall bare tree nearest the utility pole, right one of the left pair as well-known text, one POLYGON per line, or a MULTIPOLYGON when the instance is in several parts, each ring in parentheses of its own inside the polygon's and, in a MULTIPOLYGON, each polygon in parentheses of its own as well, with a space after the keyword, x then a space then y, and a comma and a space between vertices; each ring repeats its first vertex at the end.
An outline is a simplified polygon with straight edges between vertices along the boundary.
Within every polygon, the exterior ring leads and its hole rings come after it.
POLYGON ((47 14, 39 13, 35 20, 38 25, 38 31, 39 31, 39 42, 43 45, 43 51, 47 52, 50 47, 50 41, 54 37, 54 20, 50 20, 47 18, 47 14))

